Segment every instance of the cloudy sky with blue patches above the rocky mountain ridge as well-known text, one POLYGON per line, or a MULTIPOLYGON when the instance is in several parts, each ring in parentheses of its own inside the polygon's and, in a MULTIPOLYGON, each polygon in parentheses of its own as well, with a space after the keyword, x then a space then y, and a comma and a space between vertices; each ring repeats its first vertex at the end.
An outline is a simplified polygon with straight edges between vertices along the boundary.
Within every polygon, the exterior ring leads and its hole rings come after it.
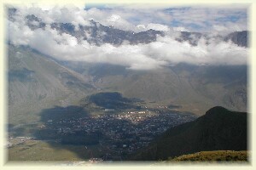
MULTIPOLYGON (((191 6, 173 7, 171 5, 105 5, 102 8, 84 10, 76 6, 55 6, 41 8, 19 7, 23 16, 35 14, 44 22, 73 23, 78 26, 88 26, 89 20, 96 20, 104 26, 113 26, 125 31, 142 31, 138 25, 144 25, 145 30, 152 24, 183 28, 189 31, 218 32, 223 34, 231 31, 247 30, 247 8, 243 5, 226 6, 191 6), (223 29, 218 29, 223 27, 223 29)), ((145 31, 143 30, 143 31, 145 31)))

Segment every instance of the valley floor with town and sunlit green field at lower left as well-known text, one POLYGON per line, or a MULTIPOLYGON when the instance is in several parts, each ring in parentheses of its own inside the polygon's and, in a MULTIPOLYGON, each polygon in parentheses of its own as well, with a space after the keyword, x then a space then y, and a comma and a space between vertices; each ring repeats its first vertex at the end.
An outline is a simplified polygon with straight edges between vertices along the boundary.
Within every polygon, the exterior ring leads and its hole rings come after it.
POLYGON ((9 136, 9 161, 122 161, 167 128, 196 116, 166 106, 48 119, 32 137, 9 136))

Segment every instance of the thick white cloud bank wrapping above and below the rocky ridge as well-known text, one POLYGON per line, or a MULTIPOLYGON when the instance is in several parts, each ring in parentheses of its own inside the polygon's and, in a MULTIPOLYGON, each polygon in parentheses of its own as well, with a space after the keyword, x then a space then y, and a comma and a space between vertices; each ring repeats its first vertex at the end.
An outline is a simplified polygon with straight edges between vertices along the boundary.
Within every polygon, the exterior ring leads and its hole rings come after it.
MULTIPOLYGON (((9 40, 15 45, 28 45, 55 59, 124 65, 133 70, 152 70, 181 62, 193 65, 247 64, 247 48, 238 47, 232 42, 219 42, 215 37, 212 37, 211 40, 201 37, 198 45, 192 46, 189 42, 175 40, 175 37, 178 36, 178 32, 175 30, 186 30, 185 27, 177 26, 173 31, 169 26, 158 23, 149 22, 147 24, 144 22, 141 25, 133 25, 124 20, 119 13, 104 14, 104 11, 99 11, 96 8, 90 8, 88 11, 81 11, 80 8, 52 8, 48 11, 38 8, 21 8, 15 15, 16 20, 9 20, 9 40), (77 26, 79 24, 86 25, 92 16, 95 19, 100 19, 105 15, 105 22, 115 24, 115 26, 130 26, 134 30, 156 29, 166 31, 166 36, 157 37, 156 42, 148 44, 123 43, 116 47, 105 43, 99 47, 83 39, 78 41, 76 37, 67 33, 61 34, 52 29, 49 23, 46 23, 45 29, 39 28, 32 31, 26 26, 26 14, 38 14, 37 16, 40 15, 42 20, 72 22, 77 26)), ((126 13, 128 12, 126 11, 126 13)), ((192 16, 193 13, 195 11, 191 12, 192 16)), ((126 14, 126 16, 128 15, 126 14)), ((200 18, 200 15, 194 14, 195 16, 197 19, 200 18)), ((226 31, 226 26, 232 26, 232 22, 227 22, 226 25, 215 25, 213 30, 226 31)))

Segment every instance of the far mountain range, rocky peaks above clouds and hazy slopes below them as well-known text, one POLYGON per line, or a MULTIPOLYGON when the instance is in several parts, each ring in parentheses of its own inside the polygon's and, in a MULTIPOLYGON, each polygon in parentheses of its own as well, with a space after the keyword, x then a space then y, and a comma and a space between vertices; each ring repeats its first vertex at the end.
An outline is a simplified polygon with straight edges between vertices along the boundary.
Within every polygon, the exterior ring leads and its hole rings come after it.
MULTIPOLYGON (((9 20, 15 20, 13 14, 15 8, 9 9, 9 20)), ((33 14, 26 16, 26 24, 32 30, 45 29, 46 26, 33 14), (39 24, 33 25, 33 21, 39 24)), ((90 20, 90 26, 79 26, 79 29, 71 23, 52 23, 50 26, 60 34, 76 37, 78 42, 86 40, 97 46, 103 43, 115 46, 123 42, 149 43, 166 34, 154 30, 122 31, 102 26, 94 20, 90 20)), ((199 32, 176 31, 173 34, 178 42, 189 42, 192 46, 196 46, 201 37, 208 38, 199 32)), ((248 46, 247 31, 215 38, 244 48, 248 46)), ((30 47, 9 44, 10 113, 20 111, 20 108, 27 112, 38 111, 49 104, 78 103, 84 96, 99 91, 116 91, 129 98, 163 105, 180 105, 180 111, 197 115, 215 105, 247 111, 247 65, 180 63, 155 71, 136 71, 122 65, 63 61, 30 47)))

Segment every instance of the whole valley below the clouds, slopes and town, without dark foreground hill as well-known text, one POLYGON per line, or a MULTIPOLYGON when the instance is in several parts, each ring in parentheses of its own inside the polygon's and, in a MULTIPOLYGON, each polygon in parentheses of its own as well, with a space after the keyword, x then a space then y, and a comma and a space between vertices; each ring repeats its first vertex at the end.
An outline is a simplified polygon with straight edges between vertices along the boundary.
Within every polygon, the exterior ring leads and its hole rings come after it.
POLYGON ((129 71, 14 46, 9 57, 10 161, 124 161, 214 105, 246 111, 244 65, 129 71))

